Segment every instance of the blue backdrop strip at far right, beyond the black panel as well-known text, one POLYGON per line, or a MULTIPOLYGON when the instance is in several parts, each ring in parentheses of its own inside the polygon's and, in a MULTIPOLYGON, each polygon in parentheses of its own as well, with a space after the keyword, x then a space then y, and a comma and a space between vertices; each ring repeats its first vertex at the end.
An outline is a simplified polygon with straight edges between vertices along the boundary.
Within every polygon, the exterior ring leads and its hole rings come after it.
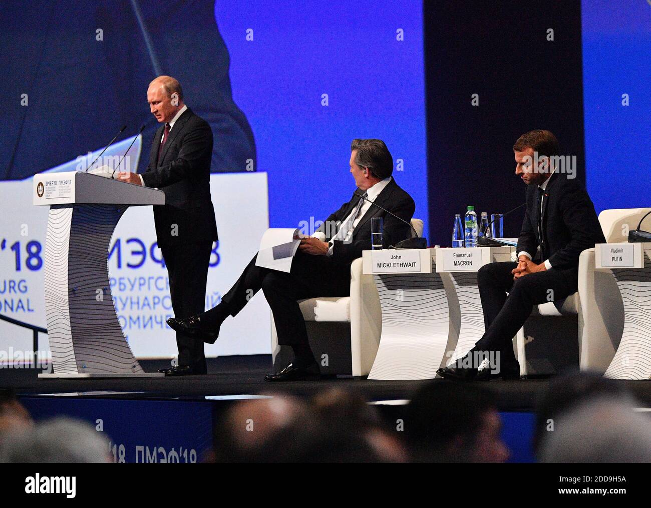
POLYGON ((584 0, 581 17, 588 191, 597 212, 650 206, 651 4, 584 0))

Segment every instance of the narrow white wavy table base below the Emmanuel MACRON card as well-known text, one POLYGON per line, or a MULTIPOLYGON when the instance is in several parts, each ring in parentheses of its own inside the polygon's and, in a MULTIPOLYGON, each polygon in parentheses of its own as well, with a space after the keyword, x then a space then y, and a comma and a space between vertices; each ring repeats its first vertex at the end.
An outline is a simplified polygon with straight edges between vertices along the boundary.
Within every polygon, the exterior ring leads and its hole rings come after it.
POLYGON ((449 364, 462 358, 484 335, 484 313, 477 286, 477 272, 450 273, 454 291, 459 299, 461 324, 459 340, 454 348, 449 364))

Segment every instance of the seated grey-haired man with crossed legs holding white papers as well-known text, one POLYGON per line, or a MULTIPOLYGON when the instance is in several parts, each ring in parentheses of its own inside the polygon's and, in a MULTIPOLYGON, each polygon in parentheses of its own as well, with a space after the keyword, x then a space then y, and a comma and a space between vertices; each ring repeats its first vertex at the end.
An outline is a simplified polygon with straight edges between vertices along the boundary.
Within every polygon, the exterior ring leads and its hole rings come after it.
POLYGON ((301 240, 290 273, 256 266, 256 254, 219 305, 189 319, 168 319, 170 327, 193 334, 197 341, 213 343, 221 323, 229 315, 238 314, 262 289, 273 312, 278 343, 294 351, 294 362, 279 373, 267 375, 266 381, 318 377, 319 367, 308 343, 298 300, 350 295, 350 265, 363 250, 370 249, 371 217, 383 218, 383 244, 388 247, 409 237, 409 221, 415 209, 411 196, 391 178, 393 157, 383 141, 353 140, 349 165, 358 194, 332 213, 314 235, 301 240))

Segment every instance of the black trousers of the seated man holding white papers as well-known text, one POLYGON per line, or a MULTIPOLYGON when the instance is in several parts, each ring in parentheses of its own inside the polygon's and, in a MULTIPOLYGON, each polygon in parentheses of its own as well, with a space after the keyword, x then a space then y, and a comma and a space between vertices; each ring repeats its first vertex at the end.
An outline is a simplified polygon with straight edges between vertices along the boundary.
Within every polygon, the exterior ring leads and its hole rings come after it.
MULTIPOLYGON (((273 312, 278 343, 309 345, 298 300, 349 296, 350 264, 337 264, 327 256, 312 256, 299 251, 294 256, 290 273, 285 273, 256 266, 257 257, 257 254, 253 256, 221 301, 227 304, 229 314, 234 316, 262 289, 273 312)), ((218 316, 215 307, 206 312, 204 321, 210 325, 218 316)))

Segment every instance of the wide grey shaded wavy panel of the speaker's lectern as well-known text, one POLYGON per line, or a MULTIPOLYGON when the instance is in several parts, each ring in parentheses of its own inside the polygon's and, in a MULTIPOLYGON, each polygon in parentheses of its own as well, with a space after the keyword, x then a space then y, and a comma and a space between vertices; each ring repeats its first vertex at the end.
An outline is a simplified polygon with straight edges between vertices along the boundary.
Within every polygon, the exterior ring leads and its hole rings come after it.
MULTIPOLYGON (((70 329, 80 373, 141 373, 115 312, 107 252, 126 206, 76 205, 70 224, 70 329)), ((55 367, 56 368, 56 367, 55 367)))

